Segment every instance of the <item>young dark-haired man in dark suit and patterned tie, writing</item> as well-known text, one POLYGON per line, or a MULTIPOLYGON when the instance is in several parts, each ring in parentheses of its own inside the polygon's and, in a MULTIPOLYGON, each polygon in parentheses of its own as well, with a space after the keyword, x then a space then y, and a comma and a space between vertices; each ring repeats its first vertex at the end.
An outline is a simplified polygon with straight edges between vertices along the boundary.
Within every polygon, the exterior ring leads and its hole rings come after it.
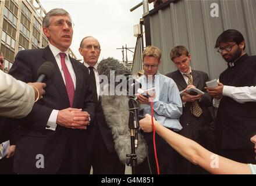
MULTIPOLYGON (((170 59, 175 63, 177 70, 166 74, 166 76, 175 81, 179 91, 187 90, 189 87, 196 87, 201 91, 205 91, 205 82, 209 81, 209 77, 203 71, 191 70, 191 56, 186 47, 174 47, 170 52, 170 59)), ((183 113, 180 117, 180 124, 182 124, 183 129, 180 134, 202 144, 203 138, 200 131, 212 121, 208 110, 208 107, 212 105, 211 96, 207 92, 204 95, 190 95, 185 92, 181 98, 183 113)), ((200 167, 194 166, 194 164, 181 156, 179 164, 178 173, 180 174, 201 173, 200 167)))

